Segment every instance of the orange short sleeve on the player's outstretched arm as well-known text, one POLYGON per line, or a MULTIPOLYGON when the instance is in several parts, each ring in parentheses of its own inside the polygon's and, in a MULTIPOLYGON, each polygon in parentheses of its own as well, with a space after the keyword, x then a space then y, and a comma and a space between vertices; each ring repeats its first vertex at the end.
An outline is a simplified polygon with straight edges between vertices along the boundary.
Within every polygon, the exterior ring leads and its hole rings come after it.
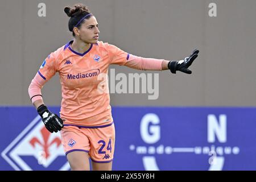
POLYGON ((110 57, 110 64, 125 65, 129 59, 129 53, 122 51, 116 46, 108 44, 108 52, 110 57))

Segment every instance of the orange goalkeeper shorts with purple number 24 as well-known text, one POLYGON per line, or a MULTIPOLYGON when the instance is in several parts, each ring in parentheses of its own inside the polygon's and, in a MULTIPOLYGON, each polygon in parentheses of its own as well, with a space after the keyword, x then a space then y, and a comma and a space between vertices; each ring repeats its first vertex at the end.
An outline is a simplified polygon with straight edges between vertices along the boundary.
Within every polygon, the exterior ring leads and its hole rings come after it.
POLYGON ((89 153, 93 162, 112 162, 115 145, 114 123, 105 126, 64 125, 60 133, 66 155, 73 151, 84 151, 89 153))

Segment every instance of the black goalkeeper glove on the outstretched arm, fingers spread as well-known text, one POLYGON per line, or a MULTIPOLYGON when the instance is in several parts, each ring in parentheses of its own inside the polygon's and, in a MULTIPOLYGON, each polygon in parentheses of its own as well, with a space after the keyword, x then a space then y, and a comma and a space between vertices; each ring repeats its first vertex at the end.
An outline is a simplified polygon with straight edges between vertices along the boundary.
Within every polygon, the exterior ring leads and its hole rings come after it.
POLYGON ((195 49, 189 57, 186 57, 184 60, 180 61, 170 61, 168 63, 168 68, 171 70, 172 73, 176 73, 176 71, 180 71, 183 73, 191 74, 192 71, 188 69, 193 61, 198 56, 199 50, 195 49))

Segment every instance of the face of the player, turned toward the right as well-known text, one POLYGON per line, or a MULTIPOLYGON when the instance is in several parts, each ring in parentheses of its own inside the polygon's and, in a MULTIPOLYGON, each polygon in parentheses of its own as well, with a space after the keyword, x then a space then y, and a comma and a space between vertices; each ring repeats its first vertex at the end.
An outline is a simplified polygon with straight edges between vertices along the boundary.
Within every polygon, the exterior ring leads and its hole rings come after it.
POLYGON ((100 31, 98 30, 98 22, 94 16, 91 16, 89 19, 86 19, 84 23, 82 23, 80 29, 80 39, 85 43, 97 43, 98 34, 100 31))

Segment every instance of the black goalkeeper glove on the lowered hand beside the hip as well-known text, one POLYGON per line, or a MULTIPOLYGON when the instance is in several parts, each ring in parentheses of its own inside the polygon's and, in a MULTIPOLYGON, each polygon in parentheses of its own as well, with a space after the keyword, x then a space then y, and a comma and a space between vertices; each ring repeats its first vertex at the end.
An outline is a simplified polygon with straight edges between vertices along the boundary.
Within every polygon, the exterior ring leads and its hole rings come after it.
POLYGON ((49 132, 53 133, 54 131, 57 133, 63 128, 63 120, 57 114, 51 113, 45 105, 38 107, 38 114, 49 132))

